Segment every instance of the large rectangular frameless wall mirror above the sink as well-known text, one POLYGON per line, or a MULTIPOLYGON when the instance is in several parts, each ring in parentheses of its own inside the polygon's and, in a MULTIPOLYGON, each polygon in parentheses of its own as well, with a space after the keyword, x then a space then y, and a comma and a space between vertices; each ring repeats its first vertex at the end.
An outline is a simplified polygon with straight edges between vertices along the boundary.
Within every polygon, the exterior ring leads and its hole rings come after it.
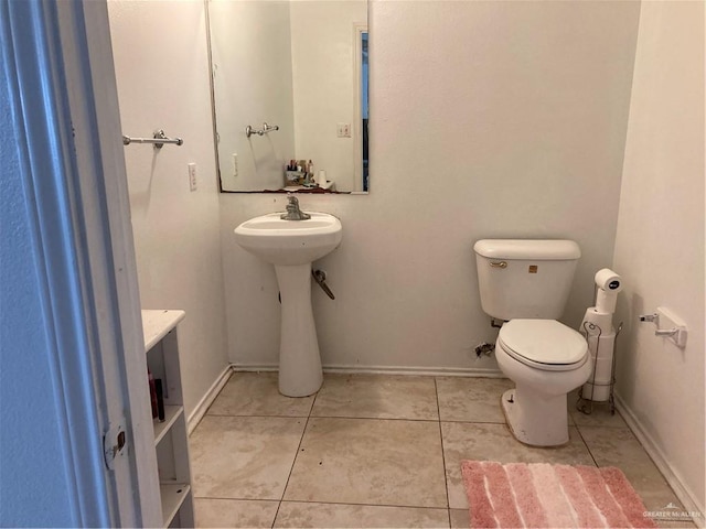
POLYGON ((206 12, 221 190, 367 192, 367 2, 206 12))

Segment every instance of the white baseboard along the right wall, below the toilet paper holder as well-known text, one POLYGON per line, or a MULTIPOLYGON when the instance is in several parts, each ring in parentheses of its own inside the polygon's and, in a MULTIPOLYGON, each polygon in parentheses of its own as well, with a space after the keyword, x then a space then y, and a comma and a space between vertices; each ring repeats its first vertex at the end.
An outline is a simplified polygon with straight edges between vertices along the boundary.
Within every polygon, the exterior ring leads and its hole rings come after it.
POLYGON ((705 527, 705 506, 699 505, 696 496, 684 484, 684 481, 681 478, 678 473, 672 468, 672 465, 670 465, 668 457, 657 446, 652 435, 648 433, 635 413, 630 409, 628 404, 625 404, 625 401, 622 400, 622 398, 618 393, 616 393, 616 407, 628 423, 628 427, 630 427, 630 430, 632 430, 632 433, 634 433, 635 438, 638 438, 638 441, 640 441, 640 444, 642 444, 642 446, 644 447, 648 455, 652 457, 652 461, 660 469, 666 482, 670 484, 676 497, 680 498, 680 501, 682 501, 685 510, 700 514, 699 517, 696 517, 694 519, 694 523, 696 523, 698 527, 705 527))

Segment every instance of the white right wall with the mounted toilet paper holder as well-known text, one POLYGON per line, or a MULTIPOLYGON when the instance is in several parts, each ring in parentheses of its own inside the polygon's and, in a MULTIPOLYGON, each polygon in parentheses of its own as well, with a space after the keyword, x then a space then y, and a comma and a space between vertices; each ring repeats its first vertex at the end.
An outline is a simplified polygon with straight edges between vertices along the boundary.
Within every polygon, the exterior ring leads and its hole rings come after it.
POLYGON ((704 141, 704 3, 643 2, 613 262, 617 391, 702 512, 704 141), (688 325, 684 349, 638 322, 657 306, 688 325))

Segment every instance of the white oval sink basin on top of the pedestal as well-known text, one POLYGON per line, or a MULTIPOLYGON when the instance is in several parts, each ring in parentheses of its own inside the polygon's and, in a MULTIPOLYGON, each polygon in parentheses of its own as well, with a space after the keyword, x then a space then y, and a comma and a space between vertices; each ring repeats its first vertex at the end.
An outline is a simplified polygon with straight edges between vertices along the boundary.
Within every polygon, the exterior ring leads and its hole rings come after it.
POLYGON ((282 220, 280 213, 250 218, 235 228, 238 245, 272 264, 306 264, 331 252, 343 237, 341 220, 307 212, 307 220, 282 220))

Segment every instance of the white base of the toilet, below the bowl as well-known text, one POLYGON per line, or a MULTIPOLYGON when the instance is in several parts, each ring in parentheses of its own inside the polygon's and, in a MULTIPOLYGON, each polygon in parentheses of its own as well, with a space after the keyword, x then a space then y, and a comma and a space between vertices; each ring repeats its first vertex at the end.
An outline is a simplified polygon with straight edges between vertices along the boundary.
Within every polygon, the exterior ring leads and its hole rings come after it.
POLYGON ((527 388, 509 389, 501 406, 510 432, 530 446, 560 446, 569 442, 566 395, 546 396, 527 388))

